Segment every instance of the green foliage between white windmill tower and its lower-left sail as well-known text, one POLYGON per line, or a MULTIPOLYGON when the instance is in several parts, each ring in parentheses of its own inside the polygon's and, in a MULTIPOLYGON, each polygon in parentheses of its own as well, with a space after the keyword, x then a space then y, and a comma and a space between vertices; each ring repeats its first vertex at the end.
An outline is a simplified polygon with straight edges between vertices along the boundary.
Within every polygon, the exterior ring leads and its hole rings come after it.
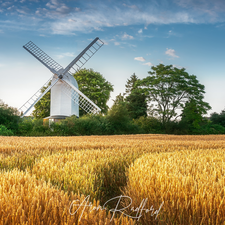
MULTIPOLYGON (((48 84, 48 86, 51 83, 48 84)), ((41 89, 41 93, 43 93, 47 88, 43 87, 41 89)), ((51 99, 51 91, 48 91, 40 100, 34 105, 34 110, 32 115, 35 119, 42 119, 50 116, 50 99, 51 99)))

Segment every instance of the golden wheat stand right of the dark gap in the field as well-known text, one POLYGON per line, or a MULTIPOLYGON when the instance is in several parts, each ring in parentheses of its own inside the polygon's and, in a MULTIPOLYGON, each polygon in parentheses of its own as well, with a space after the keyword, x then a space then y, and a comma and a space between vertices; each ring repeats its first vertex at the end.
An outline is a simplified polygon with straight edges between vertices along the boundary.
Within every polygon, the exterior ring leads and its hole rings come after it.
MULTIPOLYGON (((129 168, 124 195, 137 208, 160 208, 142 224, 225 224, 225 150, 199 149, 146 154, 129 168)), ((127 203, 124 203, 127 204, 127 203)))

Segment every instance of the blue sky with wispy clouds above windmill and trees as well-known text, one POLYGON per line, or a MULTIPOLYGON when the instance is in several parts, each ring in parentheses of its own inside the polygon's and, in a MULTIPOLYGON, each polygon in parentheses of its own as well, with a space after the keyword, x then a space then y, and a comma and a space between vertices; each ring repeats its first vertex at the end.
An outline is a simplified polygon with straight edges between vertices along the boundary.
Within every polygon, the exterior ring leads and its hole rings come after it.
POLYGON ((208 115, 225 109, 225 0, 0 0, 0 99, 20 108, 52 76, 27 42, 65 68, 96 37, 84 67, 113 85, 109 106, 162 63, 197 76, 208 115))

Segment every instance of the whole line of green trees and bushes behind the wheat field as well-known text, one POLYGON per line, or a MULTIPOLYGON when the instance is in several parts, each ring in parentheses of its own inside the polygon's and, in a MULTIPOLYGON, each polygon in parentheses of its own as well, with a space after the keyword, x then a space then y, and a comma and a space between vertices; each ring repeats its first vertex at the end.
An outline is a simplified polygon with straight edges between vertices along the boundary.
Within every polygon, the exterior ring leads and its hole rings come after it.
MULTIPOLYGON (((60 123, 43 124, 50 115, 50 92, 36 105, 33 118, 19 118, 18 111, 0 102, 0 135, 111 135, 111 134, 224 134, 225 111, 205 117, 210 105, 204 101, 205 87, 184 68, 159 64, 148 76, 134 73, 125 84, 125 93, 116 96, 109 109, 113 85, 98 72, 82 69, 74 74, 79 89, 102 112, 71 116, 60 123)), ((44 92, 44 89, 42 90, 44 92)))

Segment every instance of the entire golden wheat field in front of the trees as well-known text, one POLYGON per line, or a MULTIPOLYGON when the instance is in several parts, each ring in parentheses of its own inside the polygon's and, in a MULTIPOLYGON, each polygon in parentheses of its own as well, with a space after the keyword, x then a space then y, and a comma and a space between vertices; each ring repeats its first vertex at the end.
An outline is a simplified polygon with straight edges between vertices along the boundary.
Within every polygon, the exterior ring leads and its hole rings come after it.
POLYGON ((0 169, 4 225, 225 224, 223 135, 0 136, 0 169))

